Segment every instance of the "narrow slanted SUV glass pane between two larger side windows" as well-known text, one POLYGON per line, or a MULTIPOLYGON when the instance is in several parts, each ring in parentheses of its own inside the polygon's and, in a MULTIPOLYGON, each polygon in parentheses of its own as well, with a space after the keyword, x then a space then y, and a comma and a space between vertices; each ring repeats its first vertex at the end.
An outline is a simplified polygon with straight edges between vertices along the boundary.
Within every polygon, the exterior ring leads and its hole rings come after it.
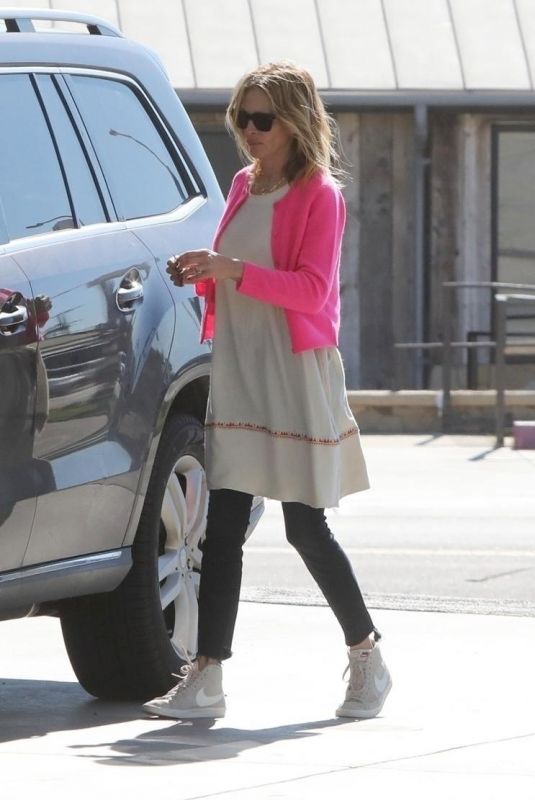
POLYGON ((35 80, 61 153, 77 224, 83 226, 106 222, 107 217, 86 153, 53 79, 49 75, 36 75, 35 80))

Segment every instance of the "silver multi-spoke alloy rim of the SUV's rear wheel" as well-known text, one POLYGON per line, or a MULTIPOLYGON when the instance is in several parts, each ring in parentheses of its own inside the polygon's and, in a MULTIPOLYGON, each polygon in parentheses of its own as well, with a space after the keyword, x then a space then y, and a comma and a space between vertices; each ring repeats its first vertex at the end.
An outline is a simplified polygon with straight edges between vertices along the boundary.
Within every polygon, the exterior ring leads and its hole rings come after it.
POLYGON ((208 490, 202 464, 183 455, 173 467, 162 502, 158 580, 169 638, 177 655, 197 651, 199 545, 206 529, 208 490))

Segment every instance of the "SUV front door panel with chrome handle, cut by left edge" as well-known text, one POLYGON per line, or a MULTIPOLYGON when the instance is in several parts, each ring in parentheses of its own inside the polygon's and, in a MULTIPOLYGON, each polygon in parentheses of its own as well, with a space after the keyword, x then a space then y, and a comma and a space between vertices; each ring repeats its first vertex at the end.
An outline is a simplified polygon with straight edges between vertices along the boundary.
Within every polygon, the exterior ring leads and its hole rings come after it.
MULTIPOLYGON (((2 255, 0 250, 2 572, 22 563, 35 514, 41 466, 33 453, 36 359, 37 334, 30 284, 13 259, 2 255)), ((43 480, 45 473, 46 469, 42 471, 43 480)))

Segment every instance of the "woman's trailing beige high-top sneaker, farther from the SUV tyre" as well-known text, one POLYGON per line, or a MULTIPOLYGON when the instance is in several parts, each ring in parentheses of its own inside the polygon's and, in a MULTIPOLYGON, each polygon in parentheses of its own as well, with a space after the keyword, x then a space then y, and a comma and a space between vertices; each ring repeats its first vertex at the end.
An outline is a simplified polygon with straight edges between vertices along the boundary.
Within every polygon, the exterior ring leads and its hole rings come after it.
POLYGON ((350 650, 349 681, 344 702, 336 709, 337 717, 371 719, 381 711, 392 688, 392 679, 376 644, 371 650, 350 650))

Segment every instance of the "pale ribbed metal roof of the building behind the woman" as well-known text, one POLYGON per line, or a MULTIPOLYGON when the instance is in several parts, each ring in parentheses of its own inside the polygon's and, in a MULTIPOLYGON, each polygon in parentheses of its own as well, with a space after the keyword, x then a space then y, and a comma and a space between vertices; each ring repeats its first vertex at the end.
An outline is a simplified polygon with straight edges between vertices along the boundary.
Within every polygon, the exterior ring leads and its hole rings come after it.
POLYGON ((84 0, 84 9, 155 50, 189 107, 224 107, 244 73, 281 59, 306 67, 331 109, 535 102, 534 0, 84 0))

